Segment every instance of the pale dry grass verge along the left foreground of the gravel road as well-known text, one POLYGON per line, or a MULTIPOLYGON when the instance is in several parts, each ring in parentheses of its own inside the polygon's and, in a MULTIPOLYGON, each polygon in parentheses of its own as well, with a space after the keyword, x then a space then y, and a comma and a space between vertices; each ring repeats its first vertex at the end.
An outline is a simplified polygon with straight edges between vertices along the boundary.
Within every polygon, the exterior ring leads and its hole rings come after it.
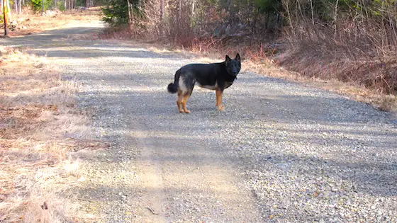
POLYGON ((90 140, 86 113, 74 107, 78 86, 44 57, 0 50, 0 222, 72 221, 63 192, 84 179, 71 152, 106 145, 90 140))

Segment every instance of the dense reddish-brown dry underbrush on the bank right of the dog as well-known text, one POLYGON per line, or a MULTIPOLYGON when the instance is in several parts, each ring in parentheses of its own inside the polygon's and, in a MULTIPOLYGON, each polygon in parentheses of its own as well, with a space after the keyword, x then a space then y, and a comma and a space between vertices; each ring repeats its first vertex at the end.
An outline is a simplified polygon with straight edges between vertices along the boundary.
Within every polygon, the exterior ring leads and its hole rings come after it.
POLYGON ((336 29, 300 25, 295 33, 286 32, 290 47, 274 57, 276 62, 301 76, 361 88, 358 96, 367 98, 364 102, 380 110, 397 110, 397 33, 393 27, 369 19, 365 23, 346 19, 336 29))

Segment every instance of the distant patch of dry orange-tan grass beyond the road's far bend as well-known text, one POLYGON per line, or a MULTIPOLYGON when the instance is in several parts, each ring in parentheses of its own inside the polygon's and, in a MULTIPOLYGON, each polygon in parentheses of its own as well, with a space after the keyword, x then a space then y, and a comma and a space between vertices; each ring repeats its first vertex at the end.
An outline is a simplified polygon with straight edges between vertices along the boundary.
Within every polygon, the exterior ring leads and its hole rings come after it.
MULTIPOLYGON (((32 33, 40 33, 45 30, 53 30, 59 28, 74 27, 78 23, 94 23, 101 18, 101 8, 92 7, 85 11, 65 11, 55 16, 41 16, 40 13, 33 13, 28 8, 23 14, 14 14, 13 20, 21 21, 21 25, 25 25, 26 29, 9 30, 10 37, 21 35, 30 35, 32 33)), ((4 29, 0 30, 0 36, 4 35, 4 29)))

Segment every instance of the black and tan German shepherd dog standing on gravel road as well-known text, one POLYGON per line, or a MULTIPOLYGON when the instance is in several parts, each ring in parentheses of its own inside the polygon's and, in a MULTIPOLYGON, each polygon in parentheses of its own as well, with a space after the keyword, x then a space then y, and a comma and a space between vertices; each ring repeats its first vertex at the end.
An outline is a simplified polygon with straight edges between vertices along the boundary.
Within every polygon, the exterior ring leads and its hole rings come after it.
POLYGON ((222 106, 222 93, 230 87, 237 78, 241 69, 240 55, 235 59, 226 55, 226 60, 214 64, 187 64, 175 73, 174 83, 168 85, 169 93, 178 93, 177 106, 179 113, 190 113, 186 102, 191 96, 194 85, 197 83, 202 88, 216 91, 216 107, 224 110, 222 106))

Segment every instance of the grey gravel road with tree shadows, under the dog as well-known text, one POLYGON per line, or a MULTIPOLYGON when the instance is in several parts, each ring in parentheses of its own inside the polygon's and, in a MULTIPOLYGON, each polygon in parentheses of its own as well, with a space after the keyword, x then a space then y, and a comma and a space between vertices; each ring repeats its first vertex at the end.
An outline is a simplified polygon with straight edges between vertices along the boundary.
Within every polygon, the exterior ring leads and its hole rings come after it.
POLYGON ((179 114, 167 84, 194 58, 73 39, 100 26, 0 40, 82 84, 79 107, 111 143, 79 153, 82 212, 98 222, 397 222, 390 113, 243 70, 225 112, 195 88, 192 113, 179 114))

